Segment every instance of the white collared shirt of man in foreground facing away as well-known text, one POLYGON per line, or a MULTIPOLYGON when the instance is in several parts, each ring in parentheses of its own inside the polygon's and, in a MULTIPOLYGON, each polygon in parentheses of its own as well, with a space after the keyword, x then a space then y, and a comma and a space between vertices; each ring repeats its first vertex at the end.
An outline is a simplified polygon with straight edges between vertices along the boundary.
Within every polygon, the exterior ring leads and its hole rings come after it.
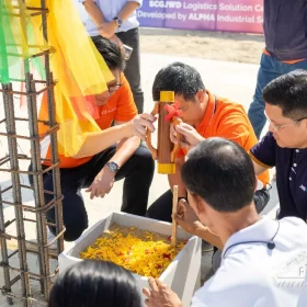
POLYGON ((234 234, 221 258, 192 307, 307 306, 307 225, 302 219, 263 217, 234 234), (266 243, 274 236, 270 250, 266 243))

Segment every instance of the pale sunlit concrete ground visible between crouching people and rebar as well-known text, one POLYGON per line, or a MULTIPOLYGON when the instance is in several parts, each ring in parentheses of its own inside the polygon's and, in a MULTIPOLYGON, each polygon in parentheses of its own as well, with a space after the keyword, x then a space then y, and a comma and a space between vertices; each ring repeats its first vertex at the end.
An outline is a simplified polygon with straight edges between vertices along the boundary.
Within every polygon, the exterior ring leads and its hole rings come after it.
MULTIPOLYGON (((173 61, 184 61, 191 66, 194 66, 201 72, 204 83, 207 89, 213 91, 219 96, 227 96, 238 103, 241 103, 246 109, 248 109, 254 87, 255 87, 255 78, 258 66, 249 65, 249 64, 238 64, 238 62, 225 62, 225 61, 213 61, 213 60, 204 60, 197 58, 184 58, 184 57, 175 57, 175 56, 162 56, 162 55, 154 55, 154 54, 143 54, 141 55, 141 78, 143 78, 143 89, 145 91, 145 111, 150 112, 152 109, 152 100, 151 100, 151 84, 158 70, 173 61)), ((24 115, 23 112, 19 111, 19 103, 16 101, 15 105, 16 113, 19 115, 24 115)), ((0 115, 3 116, 3 106, 2 101, 0 100, 0 115)), ((4 129, 3 126, 0 127, 2 132, 4 129)), ((24 123, 18 124, 18 129, 20 132, 25 133, 27 127, 24 123)), ((0 138, 0 157, 7 152, 7 144, 5 139, 0 138)), ((21 140, 19 143, 20 152, 27 154, 29 152, 29 144, 26 141, 21 140)), ((26 169, 27 163, 21 162, 21 167, 26 169)), ((21 177, 21 181, 27 183, 26 177, 21 177)), ((1 189, 8 186, 10 184, 10 175, 8 173, 0 173, 0 184, 1 189)), ((90 200, 87 193, 83 193, 84 201, 87 203, 87 209, 89 215, 89 224, 93 225, 99 219, 109 215, 112 211, 118 211, 121 207, 121 197, 122 197, 122 185, 123 182, 117 182, 113 191, 105 196, 105 198, 96 198, 90 200)), ((271 214, 274 216, 274 211, 277 204, 277 195, 276 187, 273 183, 273 189, 271 191, 271 201, 269 206, 265 208, 265 214, 271 214)), ((168 189, 168 180, 166 175, 155 174, 154 183, 150 190, 149 204, 152 203, 159 195, 161 195, 168 189)), ((29 191, 23 191, 23 202, 31 203, 33 196, 29 191)), ((5 194, 4 198, 11 198, 10 194, 5 194)), ((13 208, 5 207, 4 208, 5 220, 11 219, 14 216, 13 208)), ((14 229, 10 229, 13 234, 14 229)), ((26 225, 26 238, 31 239, 35 237, 35 229, 31 225, 26 225)), ((202 280, 205 278, 205 275, 208 273, 211 268, 211 255, 208 252, 204 254, 202 261, 202 280)), ((13 261, 18 261, 14 259, 13 261)), ((29 264, 31 268, 36 268, 36 258, 34 255, 29 255, 29 264)), ((55 263, 53 263, 53 266, 55 263)), ((2 278, 2 270, 0 270, 0 286, 3 285, 2 278)), ((0 306, 7 306, 5 299, 0 295, 0 306)), ((19 306, 19 305, 15 305, 19 306)), ((35 304, 33 306, 36 306, 35 304)))

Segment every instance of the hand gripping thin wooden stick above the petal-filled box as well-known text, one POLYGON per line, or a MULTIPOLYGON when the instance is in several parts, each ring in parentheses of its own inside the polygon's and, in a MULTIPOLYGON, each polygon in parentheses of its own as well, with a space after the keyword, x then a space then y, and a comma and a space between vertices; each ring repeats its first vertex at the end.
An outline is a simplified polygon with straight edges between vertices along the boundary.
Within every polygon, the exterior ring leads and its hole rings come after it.
POLYGON ((178 225, 192 235, 197 235, 197 231, 205 227, 185 200, 179 201, 173 218, 178 225))

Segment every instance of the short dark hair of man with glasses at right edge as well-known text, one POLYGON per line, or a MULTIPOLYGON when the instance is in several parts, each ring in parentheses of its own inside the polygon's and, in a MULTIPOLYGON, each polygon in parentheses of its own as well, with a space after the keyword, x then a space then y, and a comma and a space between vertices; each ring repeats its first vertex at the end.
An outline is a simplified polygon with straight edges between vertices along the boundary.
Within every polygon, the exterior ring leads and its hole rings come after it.
POLYGON ((297 69, 274 79, 264 88, 263 99, 293 121, 307 116, 307 71, 297 69))

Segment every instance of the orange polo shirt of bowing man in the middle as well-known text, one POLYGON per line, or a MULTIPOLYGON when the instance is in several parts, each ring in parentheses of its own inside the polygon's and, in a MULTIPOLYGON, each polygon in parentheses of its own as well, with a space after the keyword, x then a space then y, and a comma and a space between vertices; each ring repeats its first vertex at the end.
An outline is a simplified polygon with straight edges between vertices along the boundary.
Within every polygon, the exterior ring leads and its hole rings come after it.
MULTIPOLYGON (((234 140, 249 151, 258 139, 242 105, 227 99, 216 98, 209 91, 205 115, 196 130, 204 138, 224 137, 234 140)), ((186 150, 180 149, 178 157, 186 155, 186 150)), ((258 179, 265 185, 270 181, 269 171, 260 174, 258 179)))

